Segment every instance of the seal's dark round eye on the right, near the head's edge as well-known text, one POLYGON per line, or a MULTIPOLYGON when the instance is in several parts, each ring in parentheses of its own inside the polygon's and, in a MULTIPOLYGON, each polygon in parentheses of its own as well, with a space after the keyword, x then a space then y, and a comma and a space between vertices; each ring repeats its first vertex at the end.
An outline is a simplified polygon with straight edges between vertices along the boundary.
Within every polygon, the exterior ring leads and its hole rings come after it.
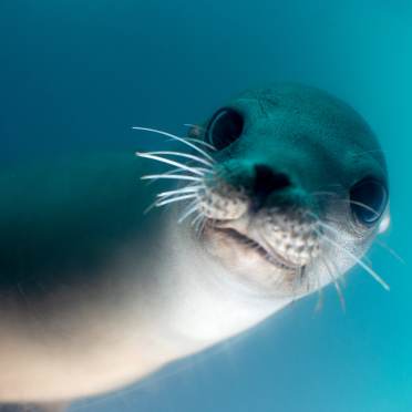
POLYGON ((372 178, 365 177, 352 186, 350 206, 353 215, 364 226, 372 226, 382 216, 388 204, 385 186, 372 178))

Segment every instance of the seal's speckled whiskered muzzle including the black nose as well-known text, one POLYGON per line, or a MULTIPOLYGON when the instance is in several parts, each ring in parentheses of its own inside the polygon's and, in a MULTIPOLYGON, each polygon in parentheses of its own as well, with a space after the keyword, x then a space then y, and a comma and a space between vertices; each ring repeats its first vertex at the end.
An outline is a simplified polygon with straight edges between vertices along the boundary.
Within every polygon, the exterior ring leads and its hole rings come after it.
POLYGON ((308 265, 319 255, 318 223, 305 202, 308 196, 287 174, 262 163, 249 167, 249 174, 235 169, 241 181, 217 174, 199 194, 208 233, 218 247, 243 250, 245 259, 259 255, 284 270, 308 265))

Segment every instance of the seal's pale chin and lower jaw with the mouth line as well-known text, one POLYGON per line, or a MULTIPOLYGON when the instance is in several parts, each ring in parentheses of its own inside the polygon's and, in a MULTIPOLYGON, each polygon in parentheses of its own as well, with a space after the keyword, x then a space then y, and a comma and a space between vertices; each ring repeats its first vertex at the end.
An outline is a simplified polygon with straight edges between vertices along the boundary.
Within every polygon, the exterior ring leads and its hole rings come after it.
POLYGON ((254 236, 254 230, 243 230, 227 222, 208 219, 203 231, 203 243, 209 255, 229 272, 249 285, 280 291, 302 270, 302 266, 288 261, 254 236), (285 284, 285 285, 284 285, 285 284))

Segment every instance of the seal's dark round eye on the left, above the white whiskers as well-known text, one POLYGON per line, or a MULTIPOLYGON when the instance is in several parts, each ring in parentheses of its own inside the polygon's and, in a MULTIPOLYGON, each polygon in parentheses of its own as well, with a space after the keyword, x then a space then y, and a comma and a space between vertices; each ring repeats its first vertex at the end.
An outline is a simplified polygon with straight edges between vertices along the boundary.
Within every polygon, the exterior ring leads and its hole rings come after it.
POLYGON ((241 135, 244 123, 241 114, 234 109, 220 109, 207 126, 206 140, 218 151, 225 148, 241 135))

